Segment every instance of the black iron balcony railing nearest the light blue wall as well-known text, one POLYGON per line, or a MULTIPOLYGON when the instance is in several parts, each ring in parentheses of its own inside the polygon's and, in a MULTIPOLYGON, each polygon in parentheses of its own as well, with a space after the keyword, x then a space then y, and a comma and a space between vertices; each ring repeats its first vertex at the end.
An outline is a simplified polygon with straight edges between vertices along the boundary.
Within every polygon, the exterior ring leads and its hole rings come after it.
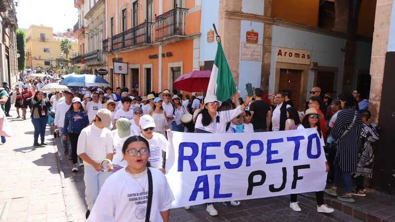
POLYGON ((185 35, 185 15, 188 13, 187 8, 173 8, 170 11, 156 17, 155 40, 174 35, 185 35))

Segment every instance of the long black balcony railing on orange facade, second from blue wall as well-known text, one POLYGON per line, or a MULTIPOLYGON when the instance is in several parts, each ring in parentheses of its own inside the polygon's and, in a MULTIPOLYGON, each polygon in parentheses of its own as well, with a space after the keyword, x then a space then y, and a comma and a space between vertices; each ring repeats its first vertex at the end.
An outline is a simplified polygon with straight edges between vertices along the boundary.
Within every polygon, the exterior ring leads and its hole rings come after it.
MULTIPOLYGON (((143 43, 152 43, 153 26, 154 23, 152 22, 144 22, 113 36, 111 38, 111 51, 143 43)), ((107 42, 108 41, 106 41, 106 44, 108 44, 107 42)), ((105 47, 108 46, 105 46, 105 41, 103 40, 103 48, 105 47)))

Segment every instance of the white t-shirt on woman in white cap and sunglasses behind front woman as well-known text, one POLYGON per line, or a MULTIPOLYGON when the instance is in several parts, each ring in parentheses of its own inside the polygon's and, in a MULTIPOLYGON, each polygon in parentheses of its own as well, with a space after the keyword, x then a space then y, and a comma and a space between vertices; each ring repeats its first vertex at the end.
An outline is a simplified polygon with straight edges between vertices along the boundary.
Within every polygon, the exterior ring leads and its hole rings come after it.
MULTIPOLYGON (((140 136, 144 137, 143 134, 140 134, 140 136)), ((147 138, 145 139, 150 144, 151 157, 148 158, 148 161, 150 161, 151 167, 161 169, 163 163, 161 150, 167 152, 167 149, 169 147, 169 142, 167 142, 166 138, 162 134, 156 132, 153 133, 153 137, 151 140, 147 138)))

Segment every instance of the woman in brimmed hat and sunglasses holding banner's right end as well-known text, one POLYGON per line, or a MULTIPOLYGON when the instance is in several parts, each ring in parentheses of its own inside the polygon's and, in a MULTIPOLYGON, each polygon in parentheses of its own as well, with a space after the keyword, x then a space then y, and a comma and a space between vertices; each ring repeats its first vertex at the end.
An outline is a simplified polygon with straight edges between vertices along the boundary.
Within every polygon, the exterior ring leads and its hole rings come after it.
MULTIPOLYGON (((317 113, 316 109, 310 108, 306 110, 306 114, 300 117, 302 124, 300 124, 297 129, 316 128, 319 137, 322 138, 318 120, 323 117, 324 116, 322 114, 317 113)), ((325 162, 325 166, 326 166, 326 172, 328 172, 329 171, 328 162, 325 162)), ((291 194, 291 202, 289 204, 289 207, 292 210, 299 212, 302 211, 302 209, 300 209, 299 207, 298 204, 299 202, 297 202, 297 198, 298 198, 298 194, 296 193, 291 194)), ((332 213, 334 211, 333 208, 330 208, 326 204, 324 204, 324 191, 316 191, 316 201, 317 201, 317 212, 332 213)))

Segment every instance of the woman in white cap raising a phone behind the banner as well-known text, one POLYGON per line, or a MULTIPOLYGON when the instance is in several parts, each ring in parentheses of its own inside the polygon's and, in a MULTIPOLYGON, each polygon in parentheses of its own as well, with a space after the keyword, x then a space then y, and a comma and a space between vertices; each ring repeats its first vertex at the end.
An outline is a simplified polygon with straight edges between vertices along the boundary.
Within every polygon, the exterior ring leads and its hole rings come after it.
MULTIPOLYGON (((252 96, 248 96, 247 94, 245 96, 246 99, 242 105, 237 106, 234 110, 227 111, 217 111, 222 104, 222 102, 218 101, 217 96, 206 96, 204 98, 203 109, 197 115, 195 133, 226 133, 227 123, 240 115, 252 100, 252 96)), ((236 100, 238 100, 239 97, 239 94, 236 93, 236 100)), ((240 202, 228 201, 224 202, 224 204, 226 206, 238 206, 240 202)), ((213 203, 207 203, 206 211, 211 216, 218 215, 218 211, 214 208, 213 203)))

